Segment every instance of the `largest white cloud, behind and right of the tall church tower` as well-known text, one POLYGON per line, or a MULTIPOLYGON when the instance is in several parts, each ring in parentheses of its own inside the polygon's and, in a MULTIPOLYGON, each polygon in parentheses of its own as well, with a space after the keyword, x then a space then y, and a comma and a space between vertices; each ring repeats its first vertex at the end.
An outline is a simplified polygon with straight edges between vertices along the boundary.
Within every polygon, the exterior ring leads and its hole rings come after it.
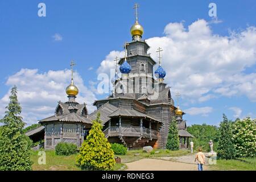
MULTIPOLYGON (((187 28, 183 23, 169 23, 164 34, 146 41, 155 60, 156 49, 163 48, 165 82, 172 93, 179 91, 184 100, 193 103, 239 95, 256 102, 256 73, 245 73, 256 63, 255 27, 221 36, 213 34, 209 23, 199 19, 187 28)), ((109 74, 116 52, 106 56, 98 73, 109 74)))

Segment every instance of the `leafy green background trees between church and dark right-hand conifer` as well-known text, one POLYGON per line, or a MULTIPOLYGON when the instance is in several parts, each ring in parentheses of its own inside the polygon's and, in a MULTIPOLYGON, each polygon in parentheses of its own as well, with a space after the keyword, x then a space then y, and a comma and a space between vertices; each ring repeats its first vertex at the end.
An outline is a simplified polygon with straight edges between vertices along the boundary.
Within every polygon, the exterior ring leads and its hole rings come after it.
POLYGON ((218 127, 213 125, 192 125, 187 131, 191 133, 193 138, 194 148, 203 148, 204 151, 210 151, 209 140, 213 140, 213 150, 218 146, 218 127))

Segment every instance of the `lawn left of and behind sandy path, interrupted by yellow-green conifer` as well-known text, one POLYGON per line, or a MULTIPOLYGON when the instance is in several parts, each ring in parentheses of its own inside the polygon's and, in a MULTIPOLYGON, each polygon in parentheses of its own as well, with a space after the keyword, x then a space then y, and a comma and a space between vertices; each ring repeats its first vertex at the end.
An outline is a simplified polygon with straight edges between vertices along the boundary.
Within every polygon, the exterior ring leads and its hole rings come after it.
MULTIPOLYGON (((76 158, 78 154, 71 156, 58 156, 55 151, 46 151, 46 165, 38 164, 38 151, 31 151, 31 159, 34 162, 32 169, 34 171, 80 171, 81 169, 76 165, 76 158)), ((127 167, 123 163, 134 162, 135 160, 144 158, 157 158, 160 156, 181 156, 188 155, 189 151, 168 151, 168 150, 154 150, 151 154, 147 154, 142 150, 131 150, 126 155, 119 155, 122 159, 122 164, 115 164, 113 170, 125 170, 127 167)))

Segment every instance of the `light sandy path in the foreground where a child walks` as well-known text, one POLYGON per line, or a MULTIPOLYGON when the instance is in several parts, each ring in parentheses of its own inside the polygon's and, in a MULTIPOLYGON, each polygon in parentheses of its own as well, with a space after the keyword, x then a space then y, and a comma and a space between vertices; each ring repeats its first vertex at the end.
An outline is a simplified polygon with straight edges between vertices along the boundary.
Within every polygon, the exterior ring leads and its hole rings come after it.
MULTIPOLYGON (((197 171, 197 163, 194 163, 194 160, 194 155, 188 155, 177 158, 141 159, 126 165, 127 171, 197 171)), ((208 169, 208 164, 204 165, 204 170, 208 169)))

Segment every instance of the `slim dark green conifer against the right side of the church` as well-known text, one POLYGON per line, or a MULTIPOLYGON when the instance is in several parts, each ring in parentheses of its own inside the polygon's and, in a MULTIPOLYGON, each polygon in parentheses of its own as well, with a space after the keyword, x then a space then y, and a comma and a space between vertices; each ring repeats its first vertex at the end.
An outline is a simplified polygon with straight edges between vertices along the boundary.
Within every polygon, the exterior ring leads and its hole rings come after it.
POLYGON ((170 128, 169 128, 166 148, 168 150, 179 150, 179 146, 180 146, 180 141, 179 141, 179 131, 177 130, 177 121, 175 117, 173 117, 170 128))

